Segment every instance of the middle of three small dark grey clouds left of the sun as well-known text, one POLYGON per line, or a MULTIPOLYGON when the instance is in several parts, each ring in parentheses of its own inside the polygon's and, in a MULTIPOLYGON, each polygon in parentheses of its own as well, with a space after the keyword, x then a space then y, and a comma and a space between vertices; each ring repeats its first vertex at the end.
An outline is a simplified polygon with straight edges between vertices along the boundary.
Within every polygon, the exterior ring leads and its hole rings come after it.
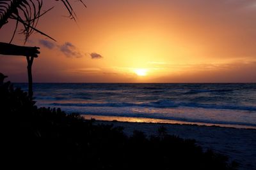
POLYGON ((67 57, 83 57, 81 52, 77 50, 76 46, 72 45, 70 42, 66 42, 63 45, 59 46, 60 51, 63 52, 67 57))

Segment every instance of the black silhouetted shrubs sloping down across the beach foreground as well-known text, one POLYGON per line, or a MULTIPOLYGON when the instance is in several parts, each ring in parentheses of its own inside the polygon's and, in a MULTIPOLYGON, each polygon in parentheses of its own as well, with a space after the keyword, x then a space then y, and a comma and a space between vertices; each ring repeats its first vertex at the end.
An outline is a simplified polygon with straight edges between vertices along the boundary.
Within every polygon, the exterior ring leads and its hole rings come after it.
POLYGON ((37 108, 10 82, 0 85, 1 166, 67 169, 236 169, 227 157, 203 152, 194 140, 159 129, 147 137, 121 127, 93 125, 60 109, 37 108))

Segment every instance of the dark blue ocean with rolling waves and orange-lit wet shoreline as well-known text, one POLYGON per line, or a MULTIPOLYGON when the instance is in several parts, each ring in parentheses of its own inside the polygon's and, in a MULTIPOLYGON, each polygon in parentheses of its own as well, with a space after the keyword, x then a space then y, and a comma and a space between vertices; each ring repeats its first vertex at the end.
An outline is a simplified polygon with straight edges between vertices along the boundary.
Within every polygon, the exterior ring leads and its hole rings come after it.
POLYGON ((256 83, 35 83, 34 96, 39 107, 102 120, 256 129, 256 83))

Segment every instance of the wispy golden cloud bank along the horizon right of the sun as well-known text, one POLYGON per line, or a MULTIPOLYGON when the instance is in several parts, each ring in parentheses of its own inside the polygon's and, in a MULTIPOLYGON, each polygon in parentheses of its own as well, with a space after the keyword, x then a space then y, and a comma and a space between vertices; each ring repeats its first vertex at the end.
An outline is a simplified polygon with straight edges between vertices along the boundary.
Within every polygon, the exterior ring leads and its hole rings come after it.
POLYGON ((256 62, 230 62, 226 64, 198 64, 188 69, 168 71, 154 81, 176 83, 246 83, 256 81, 256 62))

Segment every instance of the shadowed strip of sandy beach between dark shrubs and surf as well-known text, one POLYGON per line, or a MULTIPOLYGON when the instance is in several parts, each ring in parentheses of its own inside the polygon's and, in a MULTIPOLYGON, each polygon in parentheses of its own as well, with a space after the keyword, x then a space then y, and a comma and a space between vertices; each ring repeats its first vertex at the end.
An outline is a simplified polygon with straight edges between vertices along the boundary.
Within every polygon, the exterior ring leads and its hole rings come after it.
POLYGON ((124 127, 125 134, 131 136, 134 130, 156 135, 157 129, 166 127, 168 134, 184 139, 195 139, 204 150, 212 149, 227 155, 239 163, 239 169, 256 169, 256 130, 237 129, 203 125, 153 124, 138 122, 96 121, 95 124, 113 124, 124 127))

